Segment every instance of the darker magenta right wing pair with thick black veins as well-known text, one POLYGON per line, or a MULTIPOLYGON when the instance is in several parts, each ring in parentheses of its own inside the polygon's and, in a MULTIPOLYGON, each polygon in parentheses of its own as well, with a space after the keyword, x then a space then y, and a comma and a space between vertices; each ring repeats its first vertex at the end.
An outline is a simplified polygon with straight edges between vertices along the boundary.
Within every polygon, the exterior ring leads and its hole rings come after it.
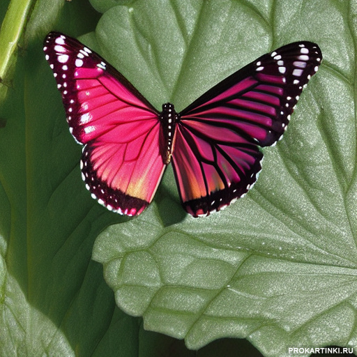
POLYGON ((321 59, 314 43, 285 45, 227 77, 179 114, 172 162, 188 213, 219 211, 252 187, 263 158, 258 146, 280 139, 321 59))

